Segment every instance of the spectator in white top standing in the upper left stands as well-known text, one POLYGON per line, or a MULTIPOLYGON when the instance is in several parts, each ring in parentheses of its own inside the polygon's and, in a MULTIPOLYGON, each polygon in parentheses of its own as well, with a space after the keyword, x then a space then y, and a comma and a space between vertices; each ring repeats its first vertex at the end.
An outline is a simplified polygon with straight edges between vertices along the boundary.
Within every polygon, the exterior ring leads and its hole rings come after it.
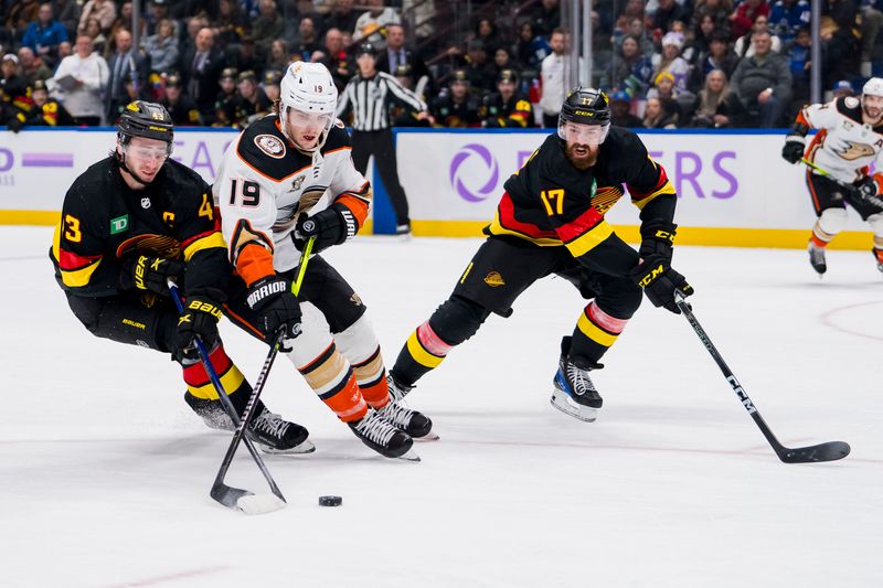
POLYGON ((61 88, 60 101, 76 124, 96 127, 104 117, 102 90, 107 86, 110 71, 104 57, 93 51, 91 38, 77 36, 74 49, 74 54, 62 60, 51 79, 61 88))

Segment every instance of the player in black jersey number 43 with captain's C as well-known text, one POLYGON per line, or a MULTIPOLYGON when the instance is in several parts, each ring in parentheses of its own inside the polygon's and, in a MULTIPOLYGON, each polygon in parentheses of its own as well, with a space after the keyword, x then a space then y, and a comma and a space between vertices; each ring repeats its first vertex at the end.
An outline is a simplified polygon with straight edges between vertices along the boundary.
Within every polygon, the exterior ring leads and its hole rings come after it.
MULTIPOLYGON (((77 319, 94 335, 169 353, 183 367, 188 405, 212 428, 233 430, 193 339, 210 351, 231 403, 242 415, 252 387, 217 334, 232 277, 209 185, 172 161, 173 127, 160 105, 129 104, 113 153, 67 191, 50 253, 77 319), (187 296, 179 316, 167 278, 187 296)), ((264 405, 251 434, 272 452, 311 451, 307 429, 264 405)))

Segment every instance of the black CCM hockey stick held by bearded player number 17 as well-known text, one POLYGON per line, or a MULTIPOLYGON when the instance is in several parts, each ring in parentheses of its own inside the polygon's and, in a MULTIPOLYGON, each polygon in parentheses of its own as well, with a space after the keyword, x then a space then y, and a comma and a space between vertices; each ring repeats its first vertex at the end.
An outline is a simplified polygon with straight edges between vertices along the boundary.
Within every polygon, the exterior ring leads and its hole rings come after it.
POLYGON ((834 461, 838 459, 843 459, 844 457, 849 456, 850 447, 849 443, 844 441, 828 441, 826 443, 813 445, 809 447, 797 447, 797 448, 789 448, 785 447, 776 439, 776 436, 773 435, 773 431, 769 429, 769 426, 764 420, 764 417, 760 416, 760 413, 754 406, 754 403, 751 398, 748 398, 748 394, 742 388, 742 385, 736 379, 736 376, 733 375, 733 372, 724 362, 724 359, 721 356, 721 353, 717 351, 717 348, 714 346, 714 343, 711 342, 708 333, 705 330, 702 329, 702 325, 699 324, 695 316, 693 314, 693 310, 690 304, 687 303, 684 300, 684 296, 680 290, 674 291, 674 303, 678 304, 678 308, 681 309, 681 312, 687 320, 690 322, 690 325, 693 328, 693 331, 696 332, 699 335, 700 341, 702 344, 705 345, 705 349, 709 350, 711 356, 714 357, 714 362, 717 364, 717 367, 721 368, 721 372, 724 373, 726 381, 733 387, 733 392, 736 393, 742 405, 745 407, 745 410, 754 419, 757 427, 760 429, 760 432, 764 434, 766 440, 773 447, 773 450, 779 457, 781 461, 785 463, 807 463, 811 461, 834 461))

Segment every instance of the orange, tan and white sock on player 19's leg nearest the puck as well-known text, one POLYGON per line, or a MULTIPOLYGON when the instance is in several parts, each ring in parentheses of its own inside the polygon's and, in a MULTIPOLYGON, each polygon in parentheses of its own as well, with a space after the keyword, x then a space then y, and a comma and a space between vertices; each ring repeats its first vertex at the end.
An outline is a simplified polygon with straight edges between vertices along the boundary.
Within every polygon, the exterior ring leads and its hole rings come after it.
POLYGON ((298 371, 343 423, 360 420, 368 413, 368 404, 355 382, 353 368, 333 343, 312 362, 298 367, 298 371))

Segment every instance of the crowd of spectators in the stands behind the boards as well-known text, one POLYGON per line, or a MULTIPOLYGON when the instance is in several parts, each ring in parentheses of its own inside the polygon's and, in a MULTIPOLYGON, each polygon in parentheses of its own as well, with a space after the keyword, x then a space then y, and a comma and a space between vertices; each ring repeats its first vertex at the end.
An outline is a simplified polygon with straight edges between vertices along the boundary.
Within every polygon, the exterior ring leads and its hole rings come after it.
MULTIPOLYGON (((177 125, 243 128, 270 111, 291 62, 339 89, 371 42, 421 94, 397 125, 551 127, 568 35, 560 0, 0 0, 0 125, 109 125, 132 99, 177 125), (467 7, 471 11, 467 11, 467 7), (552 83, 554 82, 554 83, 552 83)), ((618 125, 783 127, 809 101, 808 0, 596 0, 593 84, 618 125)), ((881 68, 883 0, 825 0, 822 84, 881 68)))

